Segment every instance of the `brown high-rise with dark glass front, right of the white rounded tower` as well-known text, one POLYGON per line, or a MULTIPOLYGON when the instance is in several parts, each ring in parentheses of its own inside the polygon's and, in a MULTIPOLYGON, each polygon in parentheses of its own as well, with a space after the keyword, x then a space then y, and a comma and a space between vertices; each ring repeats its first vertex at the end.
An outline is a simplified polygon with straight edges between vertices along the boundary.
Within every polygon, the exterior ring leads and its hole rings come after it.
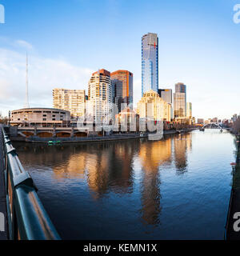
MULTIPOLYGON (((132 105, 134 102, 134 74, 127 70, 118 70, 111 73, 113 98, 114 103, 118 106, 118 112, 120 113, 126 106, 121 104, 125 103, 127 106, 132 105)), ((132 106, 130 106, 132 108, 132 106)))

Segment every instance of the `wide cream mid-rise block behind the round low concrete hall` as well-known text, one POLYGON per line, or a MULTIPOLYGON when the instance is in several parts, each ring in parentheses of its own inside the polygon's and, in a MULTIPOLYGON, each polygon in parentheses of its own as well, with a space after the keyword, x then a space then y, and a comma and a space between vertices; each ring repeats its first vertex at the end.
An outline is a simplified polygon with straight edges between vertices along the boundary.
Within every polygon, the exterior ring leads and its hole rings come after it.
POLYGON ((68 110, 74 118, 85 115, 86 110, 86 94, 85 90, 53 90, 54 108, 60 110, 68 110))

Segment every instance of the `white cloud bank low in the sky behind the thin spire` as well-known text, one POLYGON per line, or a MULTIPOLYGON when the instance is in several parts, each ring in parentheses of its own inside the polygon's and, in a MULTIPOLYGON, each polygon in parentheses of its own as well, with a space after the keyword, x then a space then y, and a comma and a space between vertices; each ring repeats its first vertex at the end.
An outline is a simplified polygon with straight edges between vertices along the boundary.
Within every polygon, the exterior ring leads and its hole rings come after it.
MULTIPOLYGON (((73 66, 63 59, 29 56, 30 106, 52 107, 55 87, 87 90, 94 70, 73 66)), ((26 94, 26 55, 0 48, 0 110, 24 106, 26 94)))

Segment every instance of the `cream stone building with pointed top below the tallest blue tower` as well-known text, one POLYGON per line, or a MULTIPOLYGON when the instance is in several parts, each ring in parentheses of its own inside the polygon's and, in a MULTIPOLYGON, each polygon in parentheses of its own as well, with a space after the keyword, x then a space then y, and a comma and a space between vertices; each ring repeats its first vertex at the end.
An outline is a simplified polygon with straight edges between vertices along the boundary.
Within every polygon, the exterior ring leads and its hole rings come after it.
POLYGON ((150 90, 138 102, 140 118, 154 118, 155 121, 171 121, 171 106, 157 92, 150 90))

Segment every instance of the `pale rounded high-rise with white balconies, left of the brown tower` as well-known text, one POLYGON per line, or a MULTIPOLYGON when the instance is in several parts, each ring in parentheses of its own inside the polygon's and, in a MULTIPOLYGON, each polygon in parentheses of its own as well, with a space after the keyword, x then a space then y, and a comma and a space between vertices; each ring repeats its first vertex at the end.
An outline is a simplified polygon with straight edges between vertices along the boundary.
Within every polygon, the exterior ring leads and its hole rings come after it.
POLYGON ((95 122, 109 122, 113 117, 113 94, 110 72, 98 70, 90 78, 88 84, 88 101, 86 114, 95 122))

